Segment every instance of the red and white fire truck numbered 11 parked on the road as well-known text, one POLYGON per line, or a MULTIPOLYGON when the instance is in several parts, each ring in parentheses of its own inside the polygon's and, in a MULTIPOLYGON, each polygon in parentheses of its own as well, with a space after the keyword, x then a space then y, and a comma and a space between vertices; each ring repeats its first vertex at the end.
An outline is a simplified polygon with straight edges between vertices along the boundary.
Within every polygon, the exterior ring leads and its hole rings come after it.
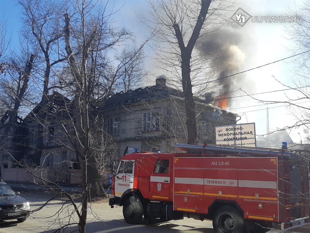
POLYGON ((212 219, 215 232, 309 223, 309 157, 283 149, 176 144, 183 153, 123 156, 109 205, 126 222, 212 219), (186 151, 187 153, 184 153, 186 151))

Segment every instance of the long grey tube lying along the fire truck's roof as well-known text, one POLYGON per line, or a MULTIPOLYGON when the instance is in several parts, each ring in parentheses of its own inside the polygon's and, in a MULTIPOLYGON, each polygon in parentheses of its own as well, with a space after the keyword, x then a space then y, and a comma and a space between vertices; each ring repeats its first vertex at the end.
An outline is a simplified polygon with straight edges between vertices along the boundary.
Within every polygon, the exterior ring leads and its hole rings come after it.
POLYGON ((258 156, 258 157, 270 157, 281 156, 291 159, 296 155, 294 152, 288 152, 284 149, 271 149, 271 148, 259 148, 259 147, 236 147, 236 146, 224 146, 224 145, 188 145, 188 144, 175 144, 175 147, 179 151, 194 152, 206 154, 206 152, 212 152, 216 154, 238 154, 239 156, 258 156))

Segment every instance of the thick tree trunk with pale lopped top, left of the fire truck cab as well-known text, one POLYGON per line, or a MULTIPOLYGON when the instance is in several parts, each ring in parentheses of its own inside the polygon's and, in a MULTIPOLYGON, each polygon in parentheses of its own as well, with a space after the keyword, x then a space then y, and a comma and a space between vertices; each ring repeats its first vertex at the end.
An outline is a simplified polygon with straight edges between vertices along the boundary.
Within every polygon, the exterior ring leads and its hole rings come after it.
MULTIPOLYGON (((86 43, 86 38, 84 35, 83 38, 83 48, 81 51, 82 62, 81 68, 78 68, 75 55, 71 49, 71 35, 70 35, 70 16, 68 14, 65 15, 65 27, 64 27, 64 39, 66 45, 66 53, 68 56, 68 62, 71 67, 71 72, 76 79, 76 94, 75 94, 75 129, 77 133, 77 137, 75 140, 75 150, 77 154, 80 154, 80 158, 82 156, 86 156, 87 165, 83 165, 84 161, 80 160, 80 165, 82 168, 82 172, 87 170, 85 173, 85 184, 89 184, 91 190, 91 197, 102 197, 103 196, 103 185, 101 181, 101 177, 99 171, 96 167, 96 160, 93 155, 89 152, 90 150, 90 127, 89 127, 89 96, 88 96, 88 83, 91 82, 91 77, 87 76, 86 72, 86 64, 87 59, 89 57, 89 47, 93 42, 95 35, 97 34, 97 28, 95 27, 93 33, 90 35, 88 42, 86 43), (83 167, 85 166, 85 167, 83 167)), ((82 13, 82 27, 84 29, 84 15, 82 13)), ((85 159, 83 159, 85 160, 85 159)), ((84 180, 83 178, 83 180, 84 180)))

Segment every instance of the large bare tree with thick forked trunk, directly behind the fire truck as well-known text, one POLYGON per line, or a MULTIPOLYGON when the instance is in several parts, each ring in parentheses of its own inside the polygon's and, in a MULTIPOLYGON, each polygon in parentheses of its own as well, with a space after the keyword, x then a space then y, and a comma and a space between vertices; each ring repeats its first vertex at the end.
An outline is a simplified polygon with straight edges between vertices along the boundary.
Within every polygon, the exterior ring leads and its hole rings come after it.
MULTIPOLYGON (((156 31, 154 40, 157 46, 154 50, 158 56, 157 62, 171 75, 175 85, 182 86, 188 144, 198 142, 193 93, 203 84, 209 83, 206 79, 214 73, 211 58, 214 53, 209 51, 210 57, 207 57, 205 51, 199 51, 197 45, 201 38, 224 25, 225 17, 220 12, 223 13, 231 6, 224 3, 215 1, 211 4, 211 0, 150 2, 153 18, 144 19, 156 31)), ((201 88, 205 89, 205 86, 201 88)))

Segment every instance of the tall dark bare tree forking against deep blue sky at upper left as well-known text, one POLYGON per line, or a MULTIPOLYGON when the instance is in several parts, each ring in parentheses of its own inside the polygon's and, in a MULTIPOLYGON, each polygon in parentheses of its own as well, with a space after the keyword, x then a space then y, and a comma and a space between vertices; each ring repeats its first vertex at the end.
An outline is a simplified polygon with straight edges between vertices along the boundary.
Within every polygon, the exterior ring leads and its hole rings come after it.
MULTIPOLYGON (((64 11, 56 1, 46 0, 19 0, 21 6, 21 21, 23 22, 22 35, 24 39, 30 40, 34 50, 38 51, 38 67, 34 77, 37 89, 41 92, 39 101, 40 111, 37 113, 38 141, 36 145, 33 161, 39 165, 43 151, 43 131, 44 121, 47 117, 46 105, 49 99, 50 75, 52 68, 58 63, 66 61, 66 56, 60 50, 63 40, 63 21, 64 11), (43 86, 43 88, 41 88, 43 86)), ((39 98, 39 96, 38 96, 39 98)))

